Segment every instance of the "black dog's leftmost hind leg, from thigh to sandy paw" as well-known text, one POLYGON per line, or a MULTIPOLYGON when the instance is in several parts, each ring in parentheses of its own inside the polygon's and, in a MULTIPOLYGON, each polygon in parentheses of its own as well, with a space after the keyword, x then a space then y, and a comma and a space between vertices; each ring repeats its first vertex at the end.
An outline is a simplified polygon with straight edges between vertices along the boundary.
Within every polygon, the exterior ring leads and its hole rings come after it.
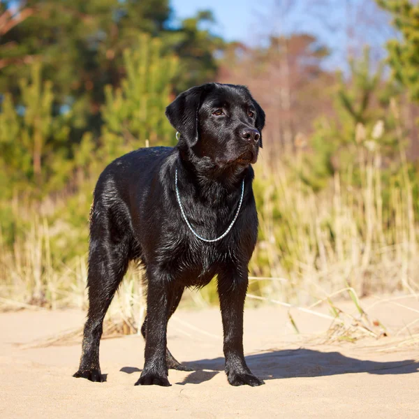
POLYGON ((90 381, 104 381, 99 365, 99 344, 103 331, 103 318, 115 291, 128 267, 128 239, 110 238, 110 220, 91 221, 91 241, 89 249, 89 311, 84 325, 82 358, 75 377, 90 381))

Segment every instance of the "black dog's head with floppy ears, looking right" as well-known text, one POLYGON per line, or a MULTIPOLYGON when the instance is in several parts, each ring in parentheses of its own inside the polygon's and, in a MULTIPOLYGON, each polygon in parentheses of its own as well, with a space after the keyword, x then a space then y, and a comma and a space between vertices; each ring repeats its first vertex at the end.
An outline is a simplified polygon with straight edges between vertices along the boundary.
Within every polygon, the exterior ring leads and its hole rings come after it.
POLYGON ((265 112, 247 87, 207 83, 179 94, 166 108, 186 149, 214 166, 249 166, 262 147, 265 112))

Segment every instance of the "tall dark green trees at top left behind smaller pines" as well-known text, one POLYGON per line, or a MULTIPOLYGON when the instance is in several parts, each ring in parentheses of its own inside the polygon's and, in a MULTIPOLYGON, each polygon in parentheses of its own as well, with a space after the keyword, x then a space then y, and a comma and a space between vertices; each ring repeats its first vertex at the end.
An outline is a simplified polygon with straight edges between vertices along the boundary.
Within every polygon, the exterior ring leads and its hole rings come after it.
POLYGON ((16 80, 29 77, 28 63, 42 61, 43 78, 53 83, 54 112, 64 106, 77 117, 71 142, 80 142, 85 131, 100 134, 104 87, 119 87, 125 76, 123 52, 135 47, 141 33, 161 38, 164 52, 182 59, 177 91, 215 76, 213 52, 221 41, 201 29, 211 22, 210 13, 176 27, 168 0, 6 1, 8 10, 16 6, 15 15, 20 10, 31 15, 6 34, 0 31, 0 93, 9 91, 19 101, 16 80))

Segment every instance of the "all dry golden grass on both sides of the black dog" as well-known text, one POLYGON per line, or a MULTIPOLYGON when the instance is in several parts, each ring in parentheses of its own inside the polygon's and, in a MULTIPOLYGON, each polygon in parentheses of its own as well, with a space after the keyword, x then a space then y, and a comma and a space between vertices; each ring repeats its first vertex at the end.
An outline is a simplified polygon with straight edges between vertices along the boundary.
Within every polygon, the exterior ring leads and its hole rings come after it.
MULTIPOLYGON (((314 311, 316 305, 326 302, 332 313, 330 339, 385 333, 360 308, 358 295, 419 292, 418 221, 406 158, 401 151, 402 168, 390 184, 383 182, 378 151, 359 145, 357 161, 336 173, 321 193, 314 193, 295 175, 302 165, 300 152, 288 164, 268 168, 262 161, 256 168, 260 240, 250 265, 248 302, 269 300, 316 316, 320 315, 314 311), (353 180, 355 170, 359 182, 353 180), (357 318, 339 311, 332 302, 338 295, 353 300, 357 318)), ((20 205, 14 205, 22 217, 20 205)), ((66 240, 68 235, 65 224, 57 223, 66 201, 48 205, 47 211, 36 215, 26 210, 29 228, 17 235, 13 247, 6 246, 0 232, 3 307, 86 308, 86 255, 64 263, 53 251, 57 237, 66 240), (54 223, 49 214, 55 214, 54 223)), ((86 230, 87 223, 78 228, 86 230)), ((140 276, 134 267, 128 271, 108 313, 109 334, 138 332, 145 316, 140 276)), ((186 304, 198 307, 212 304, 217 300, 215 287, 189 293, 187 298, 186 304)), ((291 311, 290 322, 297 331, 291 311)))

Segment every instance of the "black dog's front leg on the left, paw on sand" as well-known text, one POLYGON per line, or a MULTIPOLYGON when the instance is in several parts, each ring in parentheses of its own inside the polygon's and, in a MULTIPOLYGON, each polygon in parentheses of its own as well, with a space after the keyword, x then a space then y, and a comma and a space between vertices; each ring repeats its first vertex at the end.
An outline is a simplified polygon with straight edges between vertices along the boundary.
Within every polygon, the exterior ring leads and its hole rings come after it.
POLYGON ((135 385, 170 385, 166 365, 166 341, 170 310, 170 276, 158 267, 147 267, 147 339, 145 365, 135 385))

